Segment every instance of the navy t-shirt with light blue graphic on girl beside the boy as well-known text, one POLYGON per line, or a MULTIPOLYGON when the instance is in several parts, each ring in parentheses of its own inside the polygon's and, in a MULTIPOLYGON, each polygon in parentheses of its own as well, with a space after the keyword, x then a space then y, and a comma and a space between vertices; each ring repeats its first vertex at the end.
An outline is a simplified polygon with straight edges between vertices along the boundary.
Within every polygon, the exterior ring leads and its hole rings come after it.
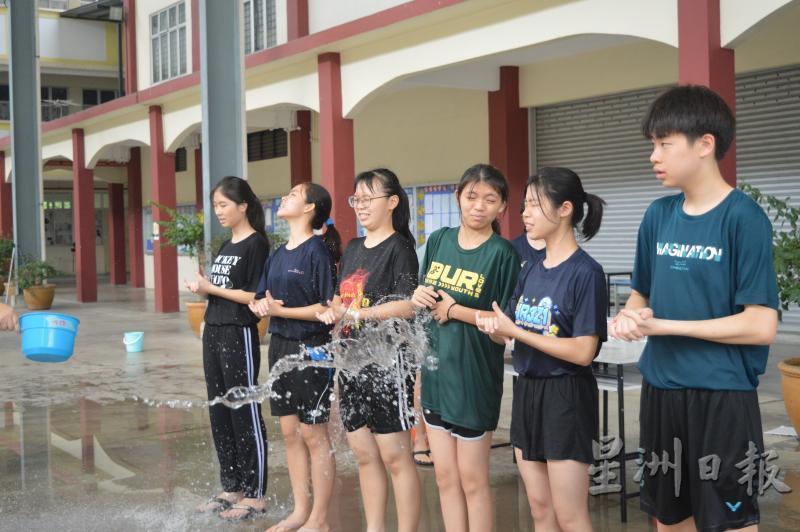
MULTIPOLYGON (((506 315, 517 326, 544 336, 597 336, 599 353, 607 340, 607 308, 603 267, 578 248, 553 268, 546 268, 541 260, 526 264, 506 306, 506 315)), ((591 366, 567 362, 519 340, 514 343, 513 361, 514 370, 526 377, 561 377, 592 371, 591 366)))

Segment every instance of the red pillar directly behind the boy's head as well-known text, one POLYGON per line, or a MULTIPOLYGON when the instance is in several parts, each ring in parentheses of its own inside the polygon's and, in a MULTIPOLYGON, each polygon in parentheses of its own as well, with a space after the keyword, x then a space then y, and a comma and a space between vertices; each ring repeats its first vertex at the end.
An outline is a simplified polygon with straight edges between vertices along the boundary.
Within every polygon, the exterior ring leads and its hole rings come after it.
MULTIPOLYGON (((736 68, 733 50, 720 43, 719 0, 678 0, 678 83, 705 85, 736 112, 736 68)), ((719 169, 736 186, 735 141, 719 169)))

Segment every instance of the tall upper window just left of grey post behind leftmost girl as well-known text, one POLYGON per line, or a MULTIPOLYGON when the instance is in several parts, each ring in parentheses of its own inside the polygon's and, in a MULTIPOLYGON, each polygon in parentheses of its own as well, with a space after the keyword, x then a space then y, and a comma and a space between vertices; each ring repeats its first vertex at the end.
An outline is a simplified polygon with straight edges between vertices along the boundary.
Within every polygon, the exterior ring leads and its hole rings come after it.
POLYGON ((186 74, 186 4, 179 2, 150 15, 153 83, 186 74))

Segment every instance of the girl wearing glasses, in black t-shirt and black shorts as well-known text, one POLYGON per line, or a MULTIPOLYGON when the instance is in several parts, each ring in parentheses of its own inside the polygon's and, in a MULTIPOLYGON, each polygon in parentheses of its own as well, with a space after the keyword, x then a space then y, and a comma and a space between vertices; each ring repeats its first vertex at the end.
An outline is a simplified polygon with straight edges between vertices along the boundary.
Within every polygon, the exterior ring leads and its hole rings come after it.
MULTIPOLYGON (((369 321, 411 318, 408 297, 417 286, 419 264, 408 228, 408 197, 397 176, 379 168, 356 177, 349 198, 366 236, 350 241, 342 256, 337 295, 319 314, 327 324, 346 320, 343 334, 369 334, 369 321), (381 302, 387 296, 400 299, 381 302)), ((411 455, 414 372, 402 347, 391 367, 367 366, 357 375, 339 374, 339 410, 347 441, 358 461, 367 530, 383 530, 388 482, 392 478, 397 530, 416 531, 420 486, 411 455)))

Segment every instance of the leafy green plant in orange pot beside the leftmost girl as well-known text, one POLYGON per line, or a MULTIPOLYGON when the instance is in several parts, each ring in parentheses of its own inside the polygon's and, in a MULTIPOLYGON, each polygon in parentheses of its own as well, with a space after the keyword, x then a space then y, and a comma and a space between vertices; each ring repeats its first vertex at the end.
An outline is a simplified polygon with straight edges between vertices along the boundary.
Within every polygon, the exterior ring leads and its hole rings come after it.
MULTIPOLYGON (((169 220, 161 220, 160 236, 166 245, 175 246, 185 251, 189 257, 197 259, 198 271, 203 271, 205 263, 205 253, 203 245, 203 213, 182 214, 175 209, 165 205, 151 202, 152 205, 166 211, 169 220)), ((206 314, 206 300, 187 301, 186 314, 189 318, 189 326, 195 336, 200 337, 200 324, 206 314)))

